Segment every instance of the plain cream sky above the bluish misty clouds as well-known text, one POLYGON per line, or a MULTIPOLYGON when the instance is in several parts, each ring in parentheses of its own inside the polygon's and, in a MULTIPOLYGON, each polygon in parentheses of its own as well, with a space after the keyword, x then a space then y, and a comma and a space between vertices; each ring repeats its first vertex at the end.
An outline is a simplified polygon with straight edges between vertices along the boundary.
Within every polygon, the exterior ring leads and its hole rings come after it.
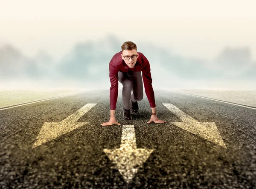
POLYGON ((114 34, 123 42, 151 42, 203 59, 227 46, 248 46, 256 60, 255 0, 149 2, 1 0, 0 44, 8 42, 26 56, 43 50, 59 59, 77 42, 114 34))

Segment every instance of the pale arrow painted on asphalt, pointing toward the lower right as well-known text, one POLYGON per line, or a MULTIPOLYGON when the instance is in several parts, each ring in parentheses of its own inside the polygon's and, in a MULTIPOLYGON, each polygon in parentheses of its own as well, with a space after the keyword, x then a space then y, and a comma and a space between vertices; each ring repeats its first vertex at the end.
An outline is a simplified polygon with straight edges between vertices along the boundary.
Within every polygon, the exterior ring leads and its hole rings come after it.
MULTIPOLYGON (((163 104, 163 103, 162 103, 163 104)), ((180 127, 184 130, 194 133, 201 138, 205 138, 208 141, 214 142, 221 147, 227 149, 226 144, 224 143, 221 134, 218 131, 218 128, 214 122, 198 122, 194 118, 190 117, 179 108, 173 104, 163 104, 166 106, 172 113, 174 113, 178 118, 184 122, 171 122, 177 127, 180 127)))

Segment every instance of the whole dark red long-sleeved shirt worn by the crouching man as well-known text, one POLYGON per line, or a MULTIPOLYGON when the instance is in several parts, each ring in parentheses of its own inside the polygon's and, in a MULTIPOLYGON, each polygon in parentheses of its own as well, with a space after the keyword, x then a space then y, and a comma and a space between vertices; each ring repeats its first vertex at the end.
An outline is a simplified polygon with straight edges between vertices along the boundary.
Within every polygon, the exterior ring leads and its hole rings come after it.
POLYGON ((110 110, 116 110, 116 101, 118 96, 118 72, 128 72, 128 71, 141 71, 142 78, 145 88, 145 93, 148 97, 148 102, 150 107, 156 107, 154 99, 154 90, 152 87, 152 78, 150 73, 150 65, 148 59, 144 54, 139 52, 139 57, 137 59, 134 68, 129 68, 125 61, 122 59, 122 51, 116 53, 111 61, 109 62, 109 78, 111 82, 110 87, 110 110))

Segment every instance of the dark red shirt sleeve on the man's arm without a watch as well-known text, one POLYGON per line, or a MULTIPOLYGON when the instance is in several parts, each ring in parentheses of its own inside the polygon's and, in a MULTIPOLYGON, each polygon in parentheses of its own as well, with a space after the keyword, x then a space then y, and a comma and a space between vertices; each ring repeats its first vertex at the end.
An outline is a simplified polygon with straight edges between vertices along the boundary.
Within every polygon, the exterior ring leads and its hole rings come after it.
POLYGON ((118 96, 118 69, 109 62, 109 79, 111 82, 110 87, 110 110, 116 110, 116 102, 118 96))

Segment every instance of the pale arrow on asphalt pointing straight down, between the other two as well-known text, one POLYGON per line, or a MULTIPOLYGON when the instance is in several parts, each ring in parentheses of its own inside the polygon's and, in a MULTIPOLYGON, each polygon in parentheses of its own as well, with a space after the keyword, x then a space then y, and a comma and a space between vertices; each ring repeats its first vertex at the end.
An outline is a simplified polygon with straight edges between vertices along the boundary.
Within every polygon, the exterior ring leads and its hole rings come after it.
POLYGON ((129 183, 154 149, 137 149, 134 125, 122 127, 120 148, 103 149, 129 183))

